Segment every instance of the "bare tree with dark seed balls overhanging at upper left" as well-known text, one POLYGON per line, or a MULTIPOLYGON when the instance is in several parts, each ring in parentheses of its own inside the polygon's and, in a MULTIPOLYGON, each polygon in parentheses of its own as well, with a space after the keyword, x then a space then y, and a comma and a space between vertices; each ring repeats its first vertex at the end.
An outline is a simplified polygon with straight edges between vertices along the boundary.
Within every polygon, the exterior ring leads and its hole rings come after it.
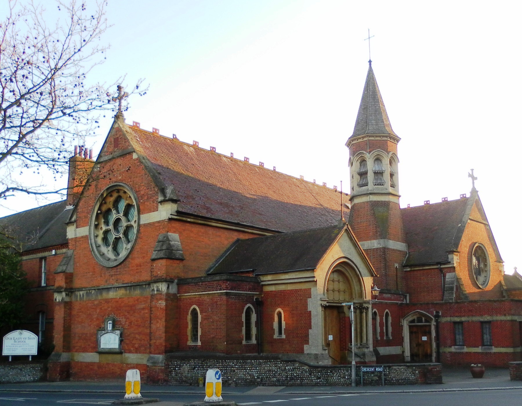
POLYGON ((60 192, 30 184, 25 175, 65 172, 72 145, 92 135, 100 114, 113 109, 108 89, 121 78, 110 86, 87 84, 108 49, 100 41, 108 28, 106 2, 94 1, 92 9, 57 1, 50 23, 41 6, 9 0, 9 15, 0 22, 0 198, 60 192))

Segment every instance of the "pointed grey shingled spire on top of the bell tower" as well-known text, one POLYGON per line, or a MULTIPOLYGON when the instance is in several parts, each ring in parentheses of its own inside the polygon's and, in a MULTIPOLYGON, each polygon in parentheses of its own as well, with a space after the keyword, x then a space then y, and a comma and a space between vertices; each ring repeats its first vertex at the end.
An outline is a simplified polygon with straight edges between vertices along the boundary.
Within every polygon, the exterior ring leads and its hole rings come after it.
POLYGON ((391 134, 397 137, 390 124, 381 92, 373 74, 372 61, 370 60, 369 63, 352 137, 364 134, 391 134))

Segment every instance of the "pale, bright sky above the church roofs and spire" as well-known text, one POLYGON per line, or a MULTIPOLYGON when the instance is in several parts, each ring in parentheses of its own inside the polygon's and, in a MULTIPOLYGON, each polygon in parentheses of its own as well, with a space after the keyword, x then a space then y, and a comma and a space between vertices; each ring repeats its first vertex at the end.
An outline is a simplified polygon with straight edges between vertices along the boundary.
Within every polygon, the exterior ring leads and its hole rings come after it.
MULTIPOLYGON (((127 123, 348 190, 345 143, 370 29, 372 67, 401 138, 401 207, 469 196, 473 168, 511 273, 522 270, 521 11, 513 1, 110 0, 111 48, 90 79, 145 78, 149 91, 129 100, 127 123)), ((87 139, 95 153, 110 125, 102 120, 87 139)), ((0 215, 38 204, 10 198, 0 215)))

